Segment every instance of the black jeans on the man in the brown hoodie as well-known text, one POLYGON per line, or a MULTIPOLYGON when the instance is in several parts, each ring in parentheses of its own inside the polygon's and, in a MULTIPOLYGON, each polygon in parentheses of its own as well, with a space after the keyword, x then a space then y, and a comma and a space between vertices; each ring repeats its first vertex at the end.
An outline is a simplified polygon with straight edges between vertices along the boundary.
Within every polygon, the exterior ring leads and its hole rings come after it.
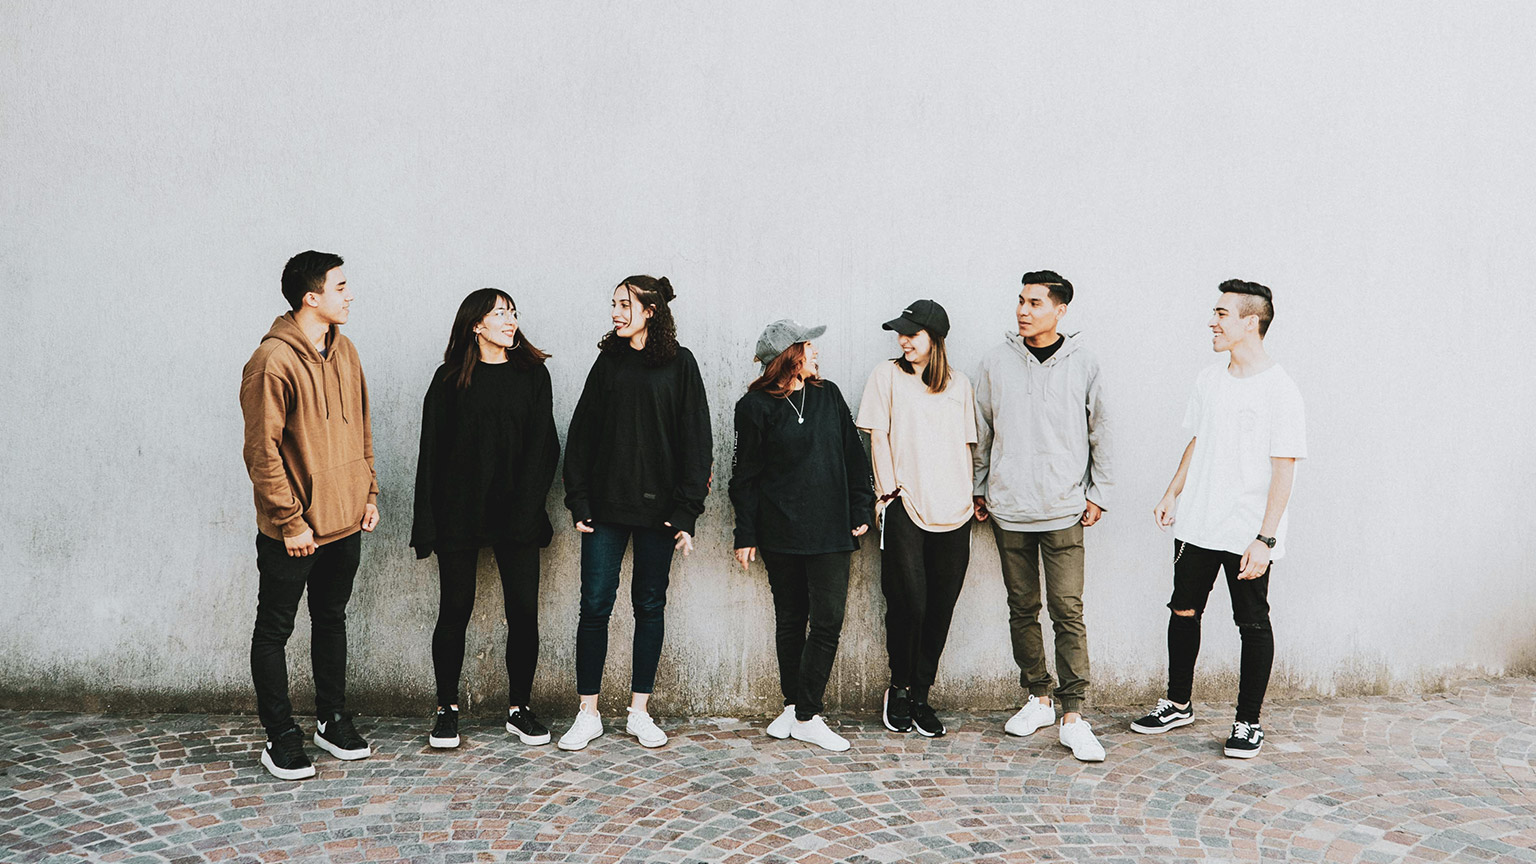
POLYGON ((257 715, 267 735, 293 724, 287 693, 287 640, 293 635, 298 601, 309 587, 309 656, 315 669, 315 716, 347 707, 347 601, 358 573, 362 535, 353 533, 295 558, 281 540, 257 533, 257 626, 250 633, 250 678, 257 715))

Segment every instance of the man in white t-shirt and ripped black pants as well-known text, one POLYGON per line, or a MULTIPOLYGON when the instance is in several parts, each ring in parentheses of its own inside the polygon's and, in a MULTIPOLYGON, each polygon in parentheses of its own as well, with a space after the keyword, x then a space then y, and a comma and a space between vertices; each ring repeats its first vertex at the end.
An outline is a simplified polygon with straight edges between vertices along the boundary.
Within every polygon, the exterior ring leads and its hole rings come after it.
POLYGON ((1258 715, 1275 660, 1269 575, 1286 553, 1286 504, 1296 460, 1307 457, 1301 392, 1264 351, 1273 318, 1267 287, 1243 280, 1221 283, 1210 347, 1229 358, 1195 380, 1184 412, 1190 440, 1174 481, 1152 510, 1160 529, 1174 527, 1167 698, 1130 724, 1135 732, 1155 735, 1195 721, 1190 687, 1200 616, 1217 572, 1224 570, 1232 620, 1243 638, 1236 721, 1224 752, 1244 759, 1264 746, 1258 715))

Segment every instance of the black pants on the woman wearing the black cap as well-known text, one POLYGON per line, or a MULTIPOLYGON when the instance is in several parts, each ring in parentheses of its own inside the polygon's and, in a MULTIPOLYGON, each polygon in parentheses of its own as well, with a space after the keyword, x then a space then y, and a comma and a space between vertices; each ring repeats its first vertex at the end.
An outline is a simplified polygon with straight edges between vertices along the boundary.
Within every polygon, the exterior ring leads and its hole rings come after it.
POLYGON ((928 701, 949 618, 971 564, 971 523, 954 530, 923 530, 900 500, 885 509, 880 590, 885 593, 885 650, 891 686, 911 687, 928 701))

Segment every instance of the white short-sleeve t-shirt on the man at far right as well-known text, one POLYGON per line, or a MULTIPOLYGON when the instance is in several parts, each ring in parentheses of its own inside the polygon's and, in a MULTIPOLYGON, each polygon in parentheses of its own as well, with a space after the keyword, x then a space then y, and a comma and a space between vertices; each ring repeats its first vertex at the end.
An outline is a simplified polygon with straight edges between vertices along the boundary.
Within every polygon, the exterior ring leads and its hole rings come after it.
MULTIPOLYGON (((1270 458, 1307 458, 1301 390, 1278 364, 1233 378, 1227 361, 1195 378, 1184 430, 1195 438, 1184 492, 1178 497, 1174 537, 1204 549, 1241 555, 1264 524, 1270 458)), ((1287 507, 1289 510, 1289 507, 1287 507)), ((1270 560, 1286 553, 1281 513, 1270 560)))

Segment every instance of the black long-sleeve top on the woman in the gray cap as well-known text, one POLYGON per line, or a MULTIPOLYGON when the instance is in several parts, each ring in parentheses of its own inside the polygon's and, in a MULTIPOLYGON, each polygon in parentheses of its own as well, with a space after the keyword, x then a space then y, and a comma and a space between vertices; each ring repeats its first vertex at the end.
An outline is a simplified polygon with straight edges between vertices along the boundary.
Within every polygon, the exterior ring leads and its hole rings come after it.
POLYGON ((852 530, 874 524, 874 484, 837 384, 806 384, 788 400, 763 390, 742 397, 730 492, 737 549, 797 555, 857 549, 852 530), (791 404, 802 398, 803 406, 791 404))

